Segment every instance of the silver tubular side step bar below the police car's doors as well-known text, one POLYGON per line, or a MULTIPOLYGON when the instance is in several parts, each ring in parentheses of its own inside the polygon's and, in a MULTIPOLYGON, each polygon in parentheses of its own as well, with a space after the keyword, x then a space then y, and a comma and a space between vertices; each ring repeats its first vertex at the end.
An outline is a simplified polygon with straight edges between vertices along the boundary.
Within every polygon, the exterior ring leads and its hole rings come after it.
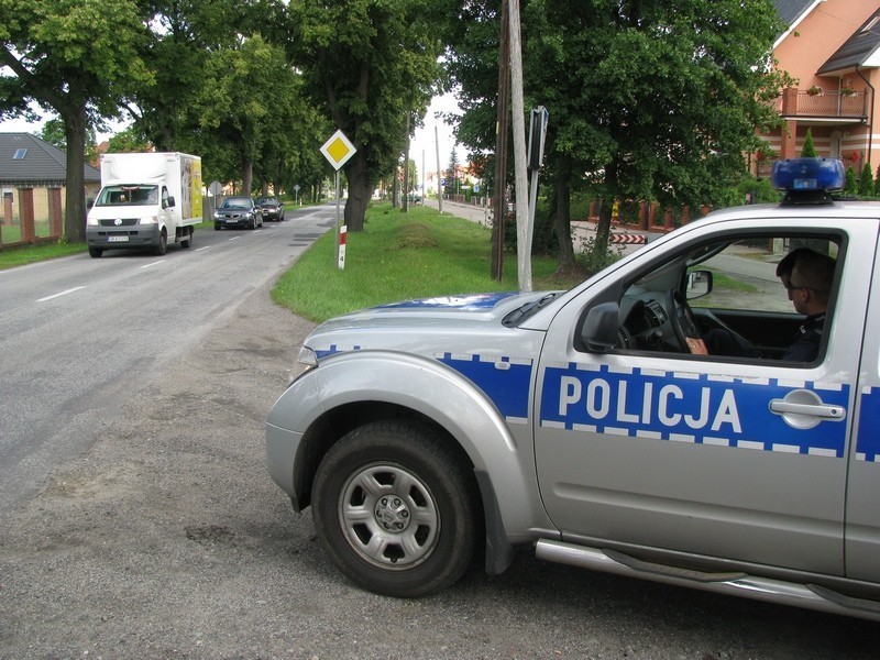
POLYGON ((675 586, 765 601, 880 622, 880 603, 854 598, 824 586, 804 585, 746 573, 705 573, 678 569, 635 559, 615 550, 600 550, 541 539, 535 554, 538 559, 581 569, 639 578, 675 586))

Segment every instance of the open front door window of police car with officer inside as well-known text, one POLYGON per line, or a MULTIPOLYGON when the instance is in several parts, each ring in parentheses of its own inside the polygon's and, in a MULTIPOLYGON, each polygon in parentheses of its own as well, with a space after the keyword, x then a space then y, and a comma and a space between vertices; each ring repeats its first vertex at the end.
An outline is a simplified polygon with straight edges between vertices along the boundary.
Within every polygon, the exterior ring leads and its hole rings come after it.
POLYGON ((679 253, 625 287, 618 349, 813 364, 825 350, 842 243, 763 233, 679 253))

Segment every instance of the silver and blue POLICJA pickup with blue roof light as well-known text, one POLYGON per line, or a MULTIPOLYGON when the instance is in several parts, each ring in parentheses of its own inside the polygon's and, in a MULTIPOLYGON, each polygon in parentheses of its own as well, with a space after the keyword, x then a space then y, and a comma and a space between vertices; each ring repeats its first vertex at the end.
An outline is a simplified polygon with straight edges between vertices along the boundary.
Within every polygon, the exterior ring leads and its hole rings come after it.
POLYGON ((711 213, 569 292, 318 327, 267 464, 341 572, 420 596, 531 544, 880 620, 880 205, 833 198, 837 161, 774 182, 782 204, 711 213), (798 250, 834 260, 826 286, 778 275, 798 250), (813 352, 792 359, 818 295, 813 352))

